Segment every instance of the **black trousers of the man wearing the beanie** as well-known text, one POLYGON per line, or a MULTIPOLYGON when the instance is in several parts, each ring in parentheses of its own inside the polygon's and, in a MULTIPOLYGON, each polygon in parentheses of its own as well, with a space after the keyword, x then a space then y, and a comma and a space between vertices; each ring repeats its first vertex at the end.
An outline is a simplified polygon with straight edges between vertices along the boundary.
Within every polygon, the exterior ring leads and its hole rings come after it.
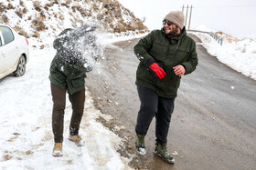
POLYGON ((137 134, 146 135, 149 125, 155 116, 155 141, 163 145, 167 142, 175 98, 160 97, 154 90, 143 86, 137 86, 137 90, 141 106, 135 131, 137 134))

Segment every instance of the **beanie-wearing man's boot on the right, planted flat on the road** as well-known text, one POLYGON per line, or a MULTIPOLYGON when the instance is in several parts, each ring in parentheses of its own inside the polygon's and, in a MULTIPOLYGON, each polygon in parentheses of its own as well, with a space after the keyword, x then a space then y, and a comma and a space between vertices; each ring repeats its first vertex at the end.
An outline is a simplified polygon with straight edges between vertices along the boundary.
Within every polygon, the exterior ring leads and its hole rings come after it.
POLYGON ((167 163, 174 164, 175 158, 171 156, 166 149, 166 144, 155 144, 155 154, 162 157, 167 163))

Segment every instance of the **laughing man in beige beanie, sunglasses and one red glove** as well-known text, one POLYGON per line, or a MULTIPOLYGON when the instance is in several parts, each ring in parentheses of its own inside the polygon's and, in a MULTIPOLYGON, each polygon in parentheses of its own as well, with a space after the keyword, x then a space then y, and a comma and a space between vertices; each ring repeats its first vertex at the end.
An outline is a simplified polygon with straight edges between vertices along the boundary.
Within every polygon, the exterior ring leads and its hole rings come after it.
POLYGON ((146 153, 144 136, 155 116, 155 154, 174 163, 174 157, 166 149, 171 115, 181 76, 196 69, 197 51, 195 41, 187 36, 181 11, 166 15, 163 25, 161 30, 152 31, 134 46, 140 60, 135 84, 141 101, 135 146, 139 154, 146 153))

